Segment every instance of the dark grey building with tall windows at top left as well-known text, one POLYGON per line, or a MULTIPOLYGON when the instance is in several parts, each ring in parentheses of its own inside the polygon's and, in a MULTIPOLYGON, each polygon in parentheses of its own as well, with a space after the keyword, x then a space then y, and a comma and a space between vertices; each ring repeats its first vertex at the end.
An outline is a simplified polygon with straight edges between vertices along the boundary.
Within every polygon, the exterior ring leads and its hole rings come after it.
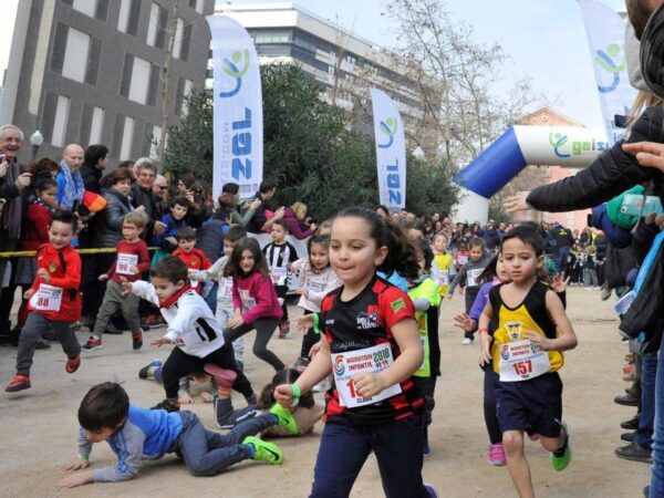
POLYGON ((205 84, 214 0, 4 1, 15 15, 0 65, 2 123, 25 133, 23 162, 37 129, 39 156, 70 143, 105 144, 112 163, 155 156, 164 124, 178 123, 185 95, 205 84))

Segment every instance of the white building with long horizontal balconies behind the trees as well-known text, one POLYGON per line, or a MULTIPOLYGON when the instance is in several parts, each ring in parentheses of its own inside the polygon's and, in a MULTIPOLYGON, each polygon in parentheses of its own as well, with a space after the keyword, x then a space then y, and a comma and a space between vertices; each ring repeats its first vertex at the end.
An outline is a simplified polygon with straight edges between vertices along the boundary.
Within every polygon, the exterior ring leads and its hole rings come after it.
MULTIPOLYGON (((346 110, 352 125, 367 133, 373 131, 369 90, 381 89, 397 105, 406 139, 427 152, 436 151, 435 127, 425 126, 426 106, 415 90, 416 82, 407 77, 405 60, 292 2, 229 3, 219 3, 215 13, 235 19, 249 32, 261 64, 299 64, 325 89, 323 98, 346 110)), ((210 60, 210 86, 211 66, 210 60)))

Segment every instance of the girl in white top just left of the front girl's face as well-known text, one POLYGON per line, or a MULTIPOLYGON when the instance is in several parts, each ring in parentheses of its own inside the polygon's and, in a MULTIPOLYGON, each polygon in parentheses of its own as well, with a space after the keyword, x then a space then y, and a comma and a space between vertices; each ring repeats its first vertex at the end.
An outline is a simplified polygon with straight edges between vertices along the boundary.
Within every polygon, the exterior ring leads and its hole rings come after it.
MULTIPOLYGON (((298 273, 302 287, 298 289, 301 295, 298 305, 304 314, 320 313, 323 298, 342 284, 332 267, 330 267, 330 238, 314 235, 307 241, 309 258, 302 258, 292 264, 293 272, 298 273)), ((295 370, 304 370, 311 361, 309 351, 319 341, 314 328, 307 329, 302 338, 300 356, 295 360, 295 370)))

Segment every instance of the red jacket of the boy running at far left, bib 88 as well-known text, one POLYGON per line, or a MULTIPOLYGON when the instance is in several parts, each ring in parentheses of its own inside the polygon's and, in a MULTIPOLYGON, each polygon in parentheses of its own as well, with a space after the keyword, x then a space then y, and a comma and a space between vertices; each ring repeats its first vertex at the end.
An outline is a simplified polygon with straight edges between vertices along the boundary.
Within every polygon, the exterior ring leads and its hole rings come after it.
POLYGON ((71 247, 56 250, 50 243, 42 245, 37 252, 38 270, 44 268, 51 276, 51 280, 45 282, 41 277, 37 277, 32 283, 34 295, 28 304, 32 312, 43 314, 52 321, 75 322, 81 319, 81 257, 71 247), (40 284, 46 284, 62 289, 59 298, 59 310, 43 310, 49 308, 50 298, 40 297, 40 284), (41 302, 40 302, 41 299, 41 302))

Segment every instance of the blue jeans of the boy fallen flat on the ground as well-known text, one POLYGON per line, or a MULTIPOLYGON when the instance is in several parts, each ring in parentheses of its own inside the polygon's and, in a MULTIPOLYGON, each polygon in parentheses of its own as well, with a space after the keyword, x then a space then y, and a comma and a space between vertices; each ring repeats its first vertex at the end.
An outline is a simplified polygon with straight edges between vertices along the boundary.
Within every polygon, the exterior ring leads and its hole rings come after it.
POLYGON ((247 421, 226 435, 207 430, 195 413, 179 412, 183 430, 173 445, 194 476, 216 476, 238 461, 251 458, 242 440, 274 425, 274 415, 266 414, 247 421))

